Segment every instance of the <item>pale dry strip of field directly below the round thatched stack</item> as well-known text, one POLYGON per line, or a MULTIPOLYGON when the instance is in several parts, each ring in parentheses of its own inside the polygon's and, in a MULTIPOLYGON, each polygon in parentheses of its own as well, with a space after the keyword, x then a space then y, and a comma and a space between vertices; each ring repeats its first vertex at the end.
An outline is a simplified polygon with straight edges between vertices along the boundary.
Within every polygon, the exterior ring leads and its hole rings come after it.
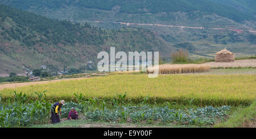
POLYGON ((256 59, 252 60, 236 60, 234 62, 207 62, 211 68, 218 67, 256 67, 256 59))

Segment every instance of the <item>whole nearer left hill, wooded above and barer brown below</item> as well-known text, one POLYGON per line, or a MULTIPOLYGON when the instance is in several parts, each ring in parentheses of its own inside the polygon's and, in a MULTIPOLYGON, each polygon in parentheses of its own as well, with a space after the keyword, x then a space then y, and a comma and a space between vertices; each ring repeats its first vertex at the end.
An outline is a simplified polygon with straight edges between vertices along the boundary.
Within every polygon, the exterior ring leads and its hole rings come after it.
POLYGON ((38 69, 43 64, 52 71, 64 65, 80 68, 110 47, 125 52, 158 50, 167 57, 173 49, 149 30, 104 30, 0 5, 0 73, 22 73, 24 68, 38 69))

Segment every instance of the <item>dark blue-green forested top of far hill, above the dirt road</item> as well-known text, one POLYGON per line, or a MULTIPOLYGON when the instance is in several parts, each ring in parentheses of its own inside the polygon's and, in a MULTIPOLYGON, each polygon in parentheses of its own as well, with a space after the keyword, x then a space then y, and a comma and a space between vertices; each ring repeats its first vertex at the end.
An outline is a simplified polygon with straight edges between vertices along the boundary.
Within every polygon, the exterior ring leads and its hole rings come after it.
MULTIPOLYGON (((99 9, 118 11, 127 14, 144 14, 157 12, 192 12, 203 11, 242 22, 255 20, 254 0, 0 0, 5 5, 38 13, 56 12, 61 9, 99 9)), ((57 18, 57 17, 56 17, 57 18)), ((82 18, 80 16, 80 18, 82 18)))

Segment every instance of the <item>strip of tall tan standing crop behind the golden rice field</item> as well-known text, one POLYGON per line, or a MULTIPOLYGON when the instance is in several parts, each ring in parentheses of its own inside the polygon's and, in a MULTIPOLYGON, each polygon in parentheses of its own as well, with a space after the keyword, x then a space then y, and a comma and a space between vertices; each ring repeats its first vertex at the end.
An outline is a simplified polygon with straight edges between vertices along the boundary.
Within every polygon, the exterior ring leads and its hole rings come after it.
MULTIPOLYGON (((148 68, 148 73, 154 73, 155 67, 148 68)), ((208 64, 164 64, 159 65, 159 74, 202 73, 210 71, 208 64)))

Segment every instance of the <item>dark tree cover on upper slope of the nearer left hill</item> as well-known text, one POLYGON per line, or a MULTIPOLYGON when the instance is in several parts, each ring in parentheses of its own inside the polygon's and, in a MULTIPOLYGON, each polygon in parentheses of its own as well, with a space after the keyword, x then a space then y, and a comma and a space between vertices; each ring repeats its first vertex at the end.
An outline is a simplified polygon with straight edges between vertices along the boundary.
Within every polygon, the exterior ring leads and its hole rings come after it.
MULTIPOLYGON (((152 46, 158 46, 155 35, 149 30, 145 29, 130 29, 125 28, 122 30, 101 30, 101 28, 91 27, 88 24, 72 23, 68 21, 59 21, 55 19, 48 19, 43 16, 32 14, 30 12, 21 11, 11 8, 9 6, 0 5, 0 18, 11 18, 16 26, 3 28, 3 35, 8 38, 22 41, 28 47, 34 47, 38 43, 45 45, 94 45, 100 46, 106 41, 115 41, 127 46, 131 45, 131 49, 139 50, 152 50, 152 46), (145 37, 146 34, 150 37, 145 37), (122 36, 120 38, 119 36, 122 36), (129 36, 129 37, 128 37, 129 36), (152 38, 153 37, 153 38, 152 38), (137 39, 137 41, 134 41, 137 39), (136 46, 141 46, 138 49, 136 46), (144 48, 143 48, 144 47, 144 48)), ((5 19, 3 19, 5 21, 5 19)), ((42 48, 43 49, 43 48, 42 48)))

